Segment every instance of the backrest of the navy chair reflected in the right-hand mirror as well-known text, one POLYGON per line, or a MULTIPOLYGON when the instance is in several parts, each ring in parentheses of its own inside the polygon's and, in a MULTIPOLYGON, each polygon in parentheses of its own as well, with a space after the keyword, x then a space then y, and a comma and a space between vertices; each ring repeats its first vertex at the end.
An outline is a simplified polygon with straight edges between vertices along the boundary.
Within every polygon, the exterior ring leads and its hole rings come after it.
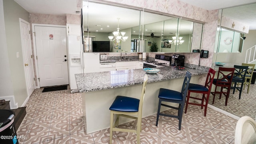
POLYGON ((238 65, 234 65, 235 71, 234 71, 234 77, 233 77, 233 82, 244 82, 244 78, 246 75, 246 72, 248 70, 248 66, 238 66, 238 65))

